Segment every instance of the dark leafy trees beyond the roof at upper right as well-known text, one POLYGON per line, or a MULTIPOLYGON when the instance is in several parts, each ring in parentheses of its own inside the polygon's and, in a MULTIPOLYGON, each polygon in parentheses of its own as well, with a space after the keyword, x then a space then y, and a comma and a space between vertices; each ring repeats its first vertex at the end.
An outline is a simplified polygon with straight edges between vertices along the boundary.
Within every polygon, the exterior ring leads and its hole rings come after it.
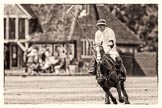
POLYGON ((157 51, 158 5, 109 5, 111 13, 144 41, 139 51, 157 51))

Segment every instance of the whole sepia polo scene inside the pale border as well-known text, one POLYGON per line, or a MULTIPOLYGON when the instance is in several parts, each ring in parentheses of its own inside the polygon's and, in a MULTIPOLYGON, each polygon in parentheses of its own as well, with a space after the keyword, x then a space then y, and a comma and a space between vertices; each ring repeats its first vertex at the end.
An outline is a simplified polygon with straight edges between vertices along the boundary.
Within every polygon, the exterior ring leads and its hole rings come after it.
POLYGON ((158 4, 4 4, 4 104, 158 104, 158 4))

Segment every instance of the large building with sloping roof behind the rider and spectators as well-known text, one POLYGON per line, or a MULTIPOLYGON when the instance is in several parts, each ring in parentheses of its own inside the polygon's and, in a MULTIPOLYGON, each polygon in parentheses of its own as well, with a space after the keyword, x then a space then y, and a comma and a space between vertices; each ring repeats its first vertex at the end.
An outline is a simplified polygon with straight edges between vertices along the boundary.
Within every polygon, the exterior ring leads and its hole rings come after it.
POLYGON ((55 55, 57 47, 62 47, 62 51, 70 56, 69 65, 75 66, 76 72, 87 73, 93 52, 86 36, 93 44, 96 22, 105 18, 108 26, 115 31, 118 50, 128 74, 134 74, 135 69, 141 74, 135 54, 143 42, 113 14, 111 5, 74 5, 67 13, 70 7, 70 4, 6 4, 5 69, 22 68, 23 53, 30 45, 47 45, 52 55, 55 55))

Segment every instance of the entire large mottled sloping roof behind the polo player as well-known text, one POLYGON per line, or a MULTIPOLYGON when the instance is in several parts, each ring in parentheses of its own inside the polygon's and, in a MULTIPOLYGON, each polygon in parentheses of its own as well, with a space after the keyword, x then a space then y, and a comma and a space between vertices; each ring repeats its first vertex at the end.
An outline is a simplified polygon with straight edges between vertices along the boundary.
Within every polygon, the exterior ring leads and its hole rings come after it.
MULTIPOLYGON (((32 4, 30 6, 43 29, 43 33, 39 34, 39 38, 36 33, 32 34, 32 40, 64 41, 67 39, 72 23, 71 19, 73 16, 65 16, 65 12, 69 8, 70 4, 32 4)), ((97 30, 95 26, 97 22, 97 15, 94 5, 91 4, 89 6, 89 15, 84 18, 78 19, 81 26, 76 23, 76 27, 72 36, 73 40, 85 38, 85 35, 87 35, 91 39, 94 39, 94 34, 97 30)), ((122 24, 115 16, 113 16, 105 6, 97 6, 97 11, 99 18, 105 18, 108 26, 114 30, 117 38, 117 44, 138 45, 141 43, 140 39, 135 34, 133 34, 133 32, 131 32, 131 30, 129 30, 124 24, 122 24)))

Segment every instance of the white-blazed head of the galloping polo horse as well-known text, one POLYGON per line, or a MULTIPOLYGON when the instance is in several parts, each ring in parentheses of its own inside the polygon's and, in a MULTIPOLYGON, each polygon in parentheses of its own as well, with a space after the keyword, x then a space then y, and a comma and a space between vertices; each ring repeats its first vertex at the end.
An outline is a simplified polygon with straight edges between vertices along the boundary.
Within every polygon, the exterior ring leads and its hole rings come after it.
POLYGON ((94 46, 95 49, 95 56, 96 56, 96 60, 97 61, 101 61, 101 58, 103 57, 103 55, 105 54, 105 51, 103 49, 103 46, 100 44, 96 44, 94 46))

